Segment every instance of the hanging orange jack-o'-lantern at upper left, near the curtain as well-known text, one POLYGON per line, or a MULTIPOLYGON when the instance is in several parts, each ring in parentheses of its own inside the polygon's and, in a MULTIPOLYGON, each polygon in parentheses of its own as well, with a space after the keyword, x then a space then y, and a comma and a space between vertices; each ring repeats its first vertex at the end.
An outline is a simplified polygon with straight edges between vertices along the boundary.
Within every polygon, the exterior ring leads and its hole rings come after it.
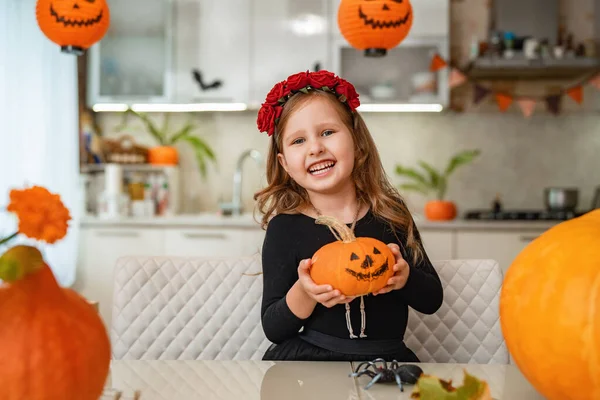
POLYGON ((106 0, 38 0, 36 17, 48 39, 75 55, 102 39, 110 24, 106 0))

